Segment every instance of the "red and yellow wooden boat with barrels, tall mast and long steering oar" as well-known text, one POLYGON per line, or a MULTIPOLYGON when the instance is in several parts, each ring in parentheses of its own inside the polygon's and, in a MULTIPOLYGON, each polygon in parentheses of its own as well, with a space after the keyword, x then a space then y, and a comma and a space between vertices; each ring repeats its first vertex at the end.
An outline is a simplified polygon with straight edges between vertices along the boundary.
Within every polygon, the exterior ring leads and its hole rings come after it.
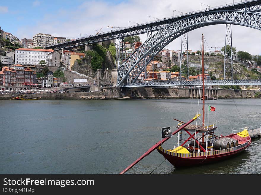
MULTIPOLYGON (((204 45, 202 34, 202 78, 204 78, 204 45)), ((205 88, 204 79, 202 79, 202 88, 205 88)), ((242 128, 243 131, 232 133, 226 136, 218 136, 215 134, 217 126, 215 124, 205 124, 205 90, 202 90, 202 118, 199 120, 201 114, 195 115, 187 123, 179 121, 176 127, 177 130, 171 133, 170 128, 163 128, 162 139, 153 145, 146 153, 134 161, 129 167, 124 169, 120 174, 124 174, 131 167, 137 164, 145 156, 148 156, 152 151, 157 151, 168 160, 174 167, 192 167, 207 163, 214 163, 217 161, 231 158, 246 150, 251 144, 251 137, 248 129, 242 128), (196 125, 190 124, 196 121, 196 125), (202 121, 202 125, 197 123, 202 121), (167 132, 167 133, 166 133, 167 132), (177 147, 172 149, 164 149, 162 144, 171 138, 173 135, 178 135, 177 147)), ((211 111, 215 108, 211 107, 211 111)))

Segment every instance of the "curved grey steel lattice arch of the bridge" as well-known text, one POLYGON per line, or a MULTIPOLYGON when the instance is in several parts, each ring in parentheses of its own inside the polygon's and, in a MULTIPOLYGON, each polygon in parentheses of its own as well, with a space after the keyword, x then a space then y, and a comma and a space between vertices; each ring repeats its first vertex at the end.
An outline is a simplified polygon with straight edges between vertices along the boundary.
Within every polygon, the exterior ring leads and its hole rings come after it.
POLYGON ((126 59, 118 69, 117 86, 121 85, 126 77, 129 77, 131 83, 135 83, 147 65, 142 63, 144 58, 147 59, 147 62, 151 61, 152 56, 155 56, 181 34, 216 24, 234 24, 261 30, 261 14, 223 10, 200 13, 179 20, 150 37, 126 59))

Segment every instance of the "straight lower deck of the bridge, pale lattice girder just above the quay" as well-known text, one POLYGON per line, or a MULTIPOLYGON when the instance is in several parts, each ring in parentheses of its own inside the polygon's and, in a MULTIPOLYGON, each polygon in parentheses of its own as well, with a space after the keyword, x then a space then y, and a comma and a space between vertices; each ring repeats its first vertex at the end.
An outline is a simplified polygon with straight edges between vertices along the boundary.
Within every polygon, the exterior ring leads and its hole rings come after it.
MULTIPOLYGON (((205 80, 205 85, 261 85, 261 80, 205 80)), ((168 81, 154 83, 126 83, 120 87, 168 87, 168 86, 202 86, 202 81, 168 81)))

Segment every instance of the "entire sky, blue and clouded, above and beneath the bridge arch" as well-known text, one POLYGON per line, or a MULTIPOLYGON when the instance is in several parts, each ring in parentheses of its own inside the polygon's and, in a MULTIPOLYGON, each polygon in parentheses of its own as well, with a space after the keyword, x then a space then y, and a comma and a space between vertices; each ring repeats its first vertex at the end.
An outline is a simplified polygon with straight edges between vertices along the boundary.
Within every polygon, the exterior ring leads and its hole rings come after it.
MULTIPOLYGON (((92 35, 101 28, 101 32, 110 31, 111 28, 107 26, 115 26, 115 30, 116 27, 128 27, 155 18, 178 15, 180 12, 200 10, 201 6, 206 9, 208 6, 229 3, 233 3, 233 0, 8 0, 0 2, 0 26, 19 39, 32 39, 37 33, 70 39, 92 35)), ((214 47, 220 50, 225 45, 225 25, 212 25, 188 33, 189 50, 200 49, 202 33, 208 45, 205 46, 206 50, 214 50, 214 47)), ((139 36, 142 42, 146 41, 147 34, 139 36)), ((233 47, 237 51, 261 55, 261 31, 233 25, 232 37, 233 47)), ((181 37, 166 48, 180 50, 181 37)))

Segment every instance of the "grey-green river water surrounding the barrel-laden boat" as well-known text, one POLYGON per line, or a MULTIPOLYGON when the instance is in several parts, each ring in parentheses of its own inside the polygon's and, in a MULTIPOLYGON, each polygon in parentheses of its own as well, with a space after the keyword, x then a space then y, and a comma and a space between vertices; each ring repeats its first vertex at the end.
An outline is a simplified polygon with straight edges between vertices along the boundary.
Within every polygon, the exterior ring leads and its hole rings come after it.
MULTIPOLYGON (((218 134, 233 127, 261 124, 260 99, 218 99, 208 104, 209 124, 218 134)), ((207 104, 206 104, 207 105, 207 104)), ((188 121, 198 99, 147 100, 0 100, 0 174, 118 174, 188 121)), ((164 143, 170 149, 176 135, 164 143)), ((249 150, 215 164, 175 169, 153 151, 126 174, 260 174, 261 139, 249 150)))

